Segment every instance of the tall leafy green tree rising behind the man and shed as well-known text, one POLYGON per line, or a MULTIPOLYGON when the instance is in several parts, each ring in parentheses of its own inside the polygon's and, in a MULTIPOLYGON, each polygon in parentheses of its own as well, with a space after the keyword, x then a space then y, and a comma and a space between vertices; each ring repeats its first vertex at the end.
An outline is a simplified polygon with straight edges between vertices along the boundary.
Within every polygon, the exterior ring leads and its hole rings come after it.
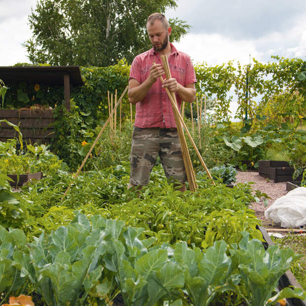
MULTIPOLYGON (((176 0, 38 0, 29 16, 33 36, 24 42, 29 59, 52 65, 109 66, 150 49, 147 17, 175 8, 176 0)), ((171 39, 190 26, 169 19, 171 39)))

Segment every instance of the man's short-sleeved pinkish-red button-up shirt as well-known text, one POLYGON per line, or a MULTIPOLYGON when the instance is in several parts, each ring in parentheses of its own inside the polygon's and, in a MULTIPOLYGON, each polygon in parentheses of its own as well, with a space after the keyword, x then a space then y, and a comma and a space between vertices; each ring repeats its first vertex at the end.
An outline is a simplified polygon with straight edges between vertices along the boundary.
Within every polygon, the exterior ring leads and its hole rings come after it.
MULTIPOLYGON (((170 45, 172 53, 168 61, 171 76, 183 86, 195 83, 195 73, 189 55, 178 51, 172 43, 170 45)), ((162 64, 159 54, 153 48, 137 55, 130 68, 129 80, 135 78, 139 83, 144 82, 150 76, 153 62, 162 64)), ((165 79, 165 76, 163 78, 165 79)), ((182 99, 177 93, 176 100, 181 109, 182 99)), ((135 126, 141 128, 176 127, 172 105, 165 89, 161 87, 160 79, 152 85, 146 97, 136 104, 135 126)))

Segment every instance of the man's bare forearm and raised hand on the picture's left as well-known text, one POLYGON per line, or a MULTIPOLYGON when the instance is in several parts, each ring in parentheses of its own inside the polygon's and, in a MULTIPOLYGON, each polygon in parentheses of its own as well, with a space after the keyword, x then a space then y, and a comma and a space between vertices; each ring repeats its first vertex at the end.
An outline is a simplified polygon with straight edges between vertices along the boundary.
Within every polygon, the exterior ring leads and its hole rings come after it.
POLYGON ((142 101, 152 85, 164 73, 165 72, 160 64, 154 64, 150 69, 150 76, 143 83, 139 83, 135 78, 131 78, 128 83, 127 92, 130 103, 136 104, 139 101, 142 101))

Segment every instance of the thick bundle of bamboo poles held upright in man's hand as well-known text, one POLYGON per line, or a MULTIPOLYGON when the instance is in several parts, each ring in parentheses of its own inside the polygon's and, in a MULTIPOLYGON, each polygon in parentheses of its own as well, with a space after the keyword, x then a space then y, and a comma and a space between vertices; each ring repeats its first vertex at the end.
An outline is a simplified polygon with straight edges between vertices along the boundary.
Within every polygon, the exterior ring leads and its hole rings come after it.
MULTIPOLYGON (((169 63, 168 63, 168 59, 166 55, 162 55, 161 56, 161 60, 162 60, 162 64, 163 64, 163 68, 165 70, 165 74, 166 74, 166 78, 169 79, 171 78, 171 73, 170 73, 170 69, 169 69, 169 63)), ((163 81, 162 77, 161 80, 163 81)), ((167 89, 167 88, 166 88, 167 89)), ((188 147, 187 147, 187 143, 186 143, 186 139, 185 139, 185 135, 183 132, 183 128, 182 128, 182 124, 180 124, 180 112, 178 110, 177 107, 177 101, 176 101, 176 96, 174 92, 169 92, 169 90, 166 90, 170 100, 173 100, 172 103, 172 108, 173 108, 173 114, 174 114, 174 118, 176 121, 176 126, 177 126, 177 131, 178 131, 178 135, 179 135, 179 139, 180 139, 180 143, 181 143, 181 148, 182 148, 182 155, 183 155, 183 160, 184 160, 184 164, 185 164, 185 169, 186 169, 186 175, 187 175, 187 180, 189 183, 189 188, 191 191, 195 191, 198 187, 195 181, 195 174, 192 168, 192 164, 191 164, 191 158, 189 155, 189 151, 188 151, 188 147)))

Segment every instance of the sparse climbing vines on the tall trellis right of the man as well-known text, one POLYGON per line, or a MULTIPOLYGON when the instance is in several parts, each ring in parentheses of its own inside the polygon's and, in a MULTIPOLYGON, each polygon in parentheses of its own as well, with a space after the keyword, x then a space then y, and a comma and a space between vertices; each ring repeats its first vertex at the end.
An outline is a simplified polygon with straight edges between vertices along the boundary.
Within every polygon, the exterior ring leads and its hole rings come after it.
POLYGON ((303 124, 306 63, 299 58, 273 58, 278 62, 262 64, 253 59, 252 67, 239 62, 234 65, 232 61, 215 67, 205 62, 195 65, 197 92, 215 99, 215 121, 229 120, 229 92, 234 89, 238 99, 236 118, 244 120, 247 112, 252 126, 263 127, 271 120, 278 125, 290 120, 295 126, 303 124), (258 96, 262 97, 259 104, 254 99, 258 96))

